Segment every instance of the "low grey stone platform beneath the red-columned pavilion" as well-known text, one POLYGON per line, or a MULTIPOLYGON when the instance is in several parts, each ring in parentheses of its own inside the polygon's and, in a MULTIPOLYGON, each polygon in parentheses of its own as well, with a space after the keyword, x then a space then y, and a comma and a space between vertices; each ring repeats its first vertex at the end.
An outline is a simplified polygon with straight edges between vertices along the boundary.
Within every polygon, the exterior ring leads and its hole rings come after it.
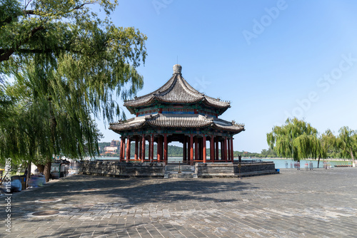
MULTIPOLYGON (((190 174, 195 178, 250 177, 279 172, 273 162, 196 162, 193 165, 164 162, 86 161, 79 168, 83 175, 109 177, 170 177, 168 174, 190 174), (171 167, 170 167, 171 166, 171 167), (185 167, 189 166, 185 171, 185 167), (173 170, 174 169, 174 170, 173 170)), ((175 177, 175 176, 171 176, 175 177)))

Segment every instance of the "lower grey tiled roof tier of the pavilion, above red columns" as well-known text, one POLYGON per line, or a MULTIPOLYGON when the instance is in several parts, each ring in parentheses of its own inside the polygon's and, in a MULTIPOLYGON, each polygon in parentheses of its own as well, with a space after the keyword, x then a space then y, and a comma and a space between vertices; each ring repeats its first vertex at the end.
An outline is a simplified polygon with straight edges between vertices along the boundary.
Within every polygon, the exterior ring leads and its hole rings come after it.
POLYGON ((144 128, 145 125, 157 127, 157 128, 203 128, 213 127, 218 130, 228 130, 233 133, 240 133, 244 130, 244 125, 233 125, 226 120, 211 118, 199 114, 154 114, 146 115, 129 120, 111 123, 109 129, 114 130, 116 133, 120 133, 124 130, 133 130, 144 128))

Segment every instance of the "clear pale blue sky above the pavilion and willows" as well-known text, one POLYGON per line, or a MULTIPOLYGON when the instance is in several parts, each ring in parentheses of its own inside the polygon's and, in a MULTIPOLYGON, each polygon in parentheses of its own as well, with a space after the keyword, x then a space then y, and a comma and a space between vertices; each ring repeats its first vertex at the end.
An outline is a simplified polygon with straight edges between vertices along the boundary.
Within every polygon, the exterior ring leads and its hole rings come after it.
MULTIPOLYGON (((353 0, 119 0, 112 21, 148 36, 138 95, 166 83, 178 58, 191 86, 231 101, 221 118, 246 125, 234 150, 261 152, 288 117, 320 133, 357 129, 356 13, 353 0)), ((102 141, 119 140, 97 122, 102 141)))

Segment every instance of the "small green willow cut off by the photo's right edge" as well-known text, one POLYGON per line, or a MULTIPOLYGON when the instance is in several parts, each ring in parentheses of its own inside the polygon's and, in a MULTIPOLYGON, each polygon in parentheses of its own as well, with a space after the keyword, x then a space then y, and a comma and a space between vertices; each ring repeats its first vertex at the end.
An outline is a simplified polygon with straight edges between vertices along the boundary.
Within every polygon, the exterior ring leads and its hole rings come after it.
POLYGON ((352 166, 355 167, 354 153, 357 150, 357 132, 356 130, 351 130, 347 126, 343 126, 338 132, 340 134, 337 138, 336 147, 341 150, 341 155, 343 155, 343 157, 352 159, 352 166))

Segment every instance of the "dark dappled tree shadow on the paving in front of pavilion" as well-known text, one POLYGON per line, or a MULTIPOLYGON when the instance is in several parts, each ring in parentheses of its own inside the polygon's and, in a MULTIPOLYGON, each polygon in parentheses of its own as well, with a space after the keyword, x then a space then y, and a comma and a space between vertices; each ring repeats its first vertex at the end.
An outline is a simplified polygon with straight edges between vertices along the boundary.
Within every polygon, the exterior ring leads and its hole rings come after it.
MULTIPOLYGON (((39 189, 19 192, 12 198, 13 216, 19 222, 23 220, 27 224, 39 226, 39 222, 45 223, 61 220, 61 217, 35 217, 29 219, 27 216, 31 212, 58 210, 68 216, 69 219, 74 214, 91 213, 91 209, 116 209, 119 213, 122 209, 135 209, 140 205, 159 206, 160 209, 172 209, 170 205, 182 203, 182 209, 201 209, 200 205, 219 202, 241 201, 236 195, 243 195, 246 190, 256 190, 247 180, 236 178, 227 179, 162 179, 162 178, 119 178, 119 177, 96 177, 91 175, 74 175, 66 177, 64 180, 45 185, 39 189), (39 203, 38 200, 59 199, 57 202, 39 203), (208 203, 207 203, 208 202, 208 203), (84 205, 81 207, 80 205, 84 205), (86 207, 85 205, 89 205, 86 207)), ((99 215, 101 217, 101 215, 99 215)), ((105 234, 104 229, 111 227, 109 235, 116 232, 129 231, 137 224, 127 224, 126 227, 109 224, 101 225, 101 221, 96 223, 97 218, 89 220, 78 220, 75 218, 72 224, 76 227, 66 227, 55 231, 51 237, 79 237, 89 230, 98 230, 105 234), (129 227, 128 227, 129 225, 129 227), (91 227, 93 226, 93 227, 91 227), (81 234, 79 233, 81 232, 81 234)), ((159 218, 158 218, 159 219, 159 218)), ((118 222, 119 219, 117 219, 118 222)), ((106 219, 107 221, 107 219, 106 219)), ((17 222, 16 222, 17 223, 17 222)), ((46 234, 47 235, 47 234, 46 234)), ((124 235, 126 236, 126 235, 124 235)), ((46 237, 44 235, 44 237, 46 237)))

